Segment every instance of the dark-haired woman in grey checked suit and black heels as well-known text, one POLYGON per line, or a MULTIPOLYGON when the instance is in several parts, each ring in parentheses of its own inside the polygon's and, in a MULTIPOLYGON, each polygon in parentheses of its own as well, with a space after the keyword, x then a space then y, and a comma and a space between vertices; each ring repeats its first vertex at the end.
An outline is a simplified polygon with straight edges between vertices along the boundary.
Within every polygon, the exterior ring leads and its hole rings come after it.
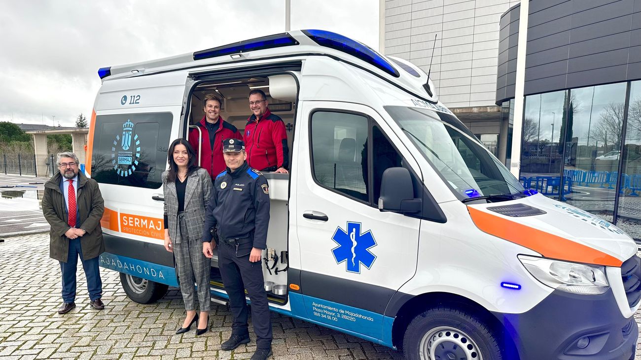
POLYGON ((196 165, 196 152, 187 140, 174 140, 169 147, 169 170, 163 172, 165 194, 165 249, 174 253, 180 291, 187 316, 176 334, 183 334, 197 322, 196 335, 207 332, 211 307, 210 264, 203 254, 203 222, 212 197, 212 178, 196 165), (196 289, 200 317, 196 315, 196 289))

